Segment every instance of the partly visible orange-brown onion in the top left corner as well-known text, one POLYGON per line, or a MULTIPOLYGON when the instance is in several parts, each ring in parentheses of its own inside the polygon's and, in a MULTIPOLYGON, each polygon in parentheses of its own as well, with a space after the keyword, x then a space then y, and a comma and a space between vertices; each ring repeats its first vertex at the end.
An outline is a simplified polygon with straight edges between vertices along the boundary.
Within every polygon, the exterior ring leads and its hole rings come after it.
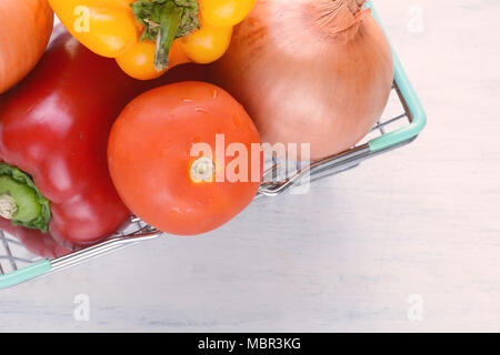
POLYGON ((40 60, 53 12, 47 0, 0 1, 0 94, 24 78, 40 60))

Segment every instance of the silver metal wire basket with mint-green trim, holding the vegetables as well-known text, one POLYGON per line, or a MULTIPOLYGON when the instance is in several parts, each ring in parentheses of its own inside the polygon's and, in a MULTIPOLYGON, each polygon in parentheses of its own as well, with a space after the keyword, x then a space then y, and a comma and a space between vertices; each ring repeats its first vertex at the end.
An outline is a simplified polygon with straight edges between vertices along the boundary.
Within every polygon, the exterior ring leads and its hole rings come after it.
MULTIPOLYGON (((372 4, 373 16, 378 19, 372 4)), ((392 151, 412 142, 426 125, 426 113, 394 57, 394 82, 389 104, 383 116, 371 132, 356 146, 340 154, 329 156, 307 166, 297 163, 290 169, 289 162, 267 161, 264 179, 257 197, 276 196, 300 186, 304 178, 316 181, 358 166, 362 161, 392 151)), ((16 237, 0 231, 0 288, 40 277, 89 261, 93 257, 116 252, 147 240, 163 235, 139 219, 131 219, 130 225, 121 233, 104 242, 69 255, 52 260, 31 255, 16 237)))

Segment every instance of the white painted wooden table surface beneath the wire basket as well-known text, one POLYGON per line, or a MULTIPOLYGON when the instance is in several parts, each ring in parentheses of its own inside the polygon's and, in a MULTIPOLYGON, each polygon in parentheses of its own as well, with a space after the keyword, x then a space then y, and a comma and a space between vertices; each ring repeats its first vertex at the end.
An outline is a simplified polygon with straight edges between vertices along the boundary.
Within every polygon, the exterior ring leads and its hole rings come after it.
POLYGON ((374 2, 429 115, 413 144, 2 291, 0 332, 500 331, 500 2, 374 2))

